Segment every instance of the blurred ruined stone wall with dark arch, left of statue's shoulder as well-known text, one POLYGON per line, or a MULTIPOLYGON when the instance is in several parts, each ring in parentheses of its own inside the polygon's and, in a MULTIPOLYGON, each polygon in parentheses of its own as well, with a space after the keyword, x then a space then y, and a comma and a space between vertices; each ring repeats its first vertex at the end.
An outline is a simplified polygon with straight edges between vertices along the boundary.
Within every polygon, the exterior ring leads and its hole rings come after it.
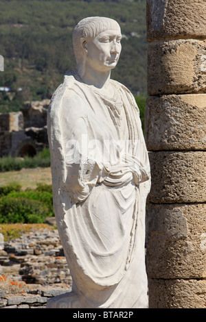
POLYGON ((0 157, 34 156, 48 147, 49 101, 28 101, 19 112, 0 114, 0 157))

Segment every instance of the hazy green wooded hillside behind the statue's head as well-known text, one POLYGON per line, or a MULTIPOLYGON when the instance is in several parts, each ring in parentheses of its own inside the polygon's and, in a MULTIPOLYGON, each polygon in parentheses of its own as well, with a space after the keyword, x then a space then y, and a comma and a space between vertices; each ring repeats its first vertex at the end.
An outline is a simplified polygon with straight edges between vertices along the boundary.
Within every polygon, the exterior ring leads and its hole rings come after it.
POLYGON ((1 0, 0 112, 19 110, 23 101, 50 98, 65 71, 76 63, 73 27, 86 16, 118 21, 122 54, 112 77, 134 95, 146 95, 146 0, 1 0))

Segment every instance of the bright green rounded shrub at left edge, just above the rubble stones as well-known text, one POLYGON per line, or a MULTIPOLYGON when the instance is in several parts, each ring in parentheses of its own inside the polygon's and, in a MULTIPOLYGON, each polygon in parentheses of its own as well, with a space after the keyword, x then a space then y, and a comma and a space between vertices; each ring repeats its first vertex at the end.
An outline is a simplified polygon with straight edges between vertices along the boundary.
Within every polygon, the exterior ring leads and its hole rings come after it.
POLYGON ((0 223, 43 223, 49 209, 41 201, 23 197, 0 198, 0 223))

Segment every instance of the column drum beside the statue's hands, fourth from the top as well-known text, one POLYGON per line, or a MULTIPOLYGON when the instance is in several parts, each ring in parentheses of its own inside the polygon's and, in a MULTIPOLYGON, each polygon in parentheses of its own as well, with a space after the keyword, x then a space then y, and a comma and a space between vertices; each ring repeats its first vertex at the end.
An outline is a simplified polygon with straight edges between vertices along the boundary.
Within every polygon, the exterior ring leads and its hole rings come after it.
POLYGON ((149 153, 152 186, 148 203, 206 201, 205 151, 149 153))

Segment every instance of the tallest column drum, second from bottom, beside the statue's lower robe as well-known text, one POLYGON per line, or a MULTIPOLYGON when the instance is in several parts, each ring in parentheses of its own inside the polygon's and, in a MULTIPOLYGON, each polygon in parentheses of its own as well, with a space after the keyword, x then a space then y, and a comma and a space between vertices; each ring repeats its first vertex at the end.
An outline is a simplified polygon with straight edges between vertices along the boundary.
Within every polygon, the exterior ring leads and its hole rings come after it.
POLYGON ((206 277, 206 204, 150 204, 146 219, 148 277, 206 277))

